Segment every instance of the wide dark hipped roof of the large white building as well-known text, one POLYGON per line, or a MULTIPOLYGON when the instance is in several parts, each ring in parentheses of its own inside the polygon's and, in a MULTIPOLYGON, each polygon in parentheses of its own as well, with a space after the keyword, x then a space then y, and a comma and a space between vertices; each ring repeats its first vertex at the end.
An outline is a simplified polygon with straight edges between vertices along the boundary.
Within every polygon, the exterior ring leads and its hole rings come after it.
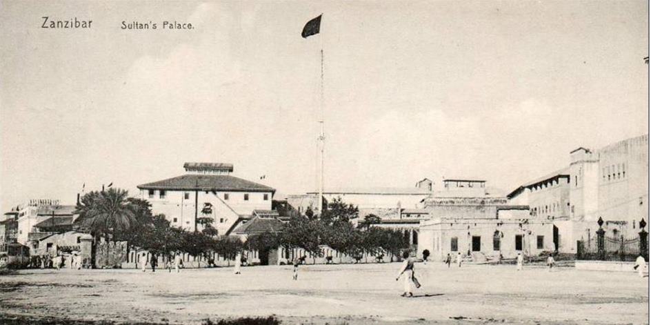
POLYGON ((274 188, 231 175, 181 175, 141 184, 145 190, 229 190, 234 192, 275 192, 274 188))

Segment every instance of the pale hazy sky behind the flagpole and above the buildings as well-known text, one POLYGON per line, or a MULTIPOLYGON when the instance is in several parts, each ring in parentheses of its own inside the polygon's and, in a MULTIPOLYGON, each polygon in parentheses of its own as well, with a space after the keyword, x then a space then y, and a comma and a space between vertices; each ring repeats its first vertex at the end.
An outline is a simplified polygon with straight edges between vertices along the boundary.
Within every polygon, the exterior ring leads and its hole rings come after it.
POLYGON ((648 133, 648 31, 646 1, 0 1, 0 209, 137 195, 186 161, 306 193, 321 106, 326 189, 508 192, 648 133))

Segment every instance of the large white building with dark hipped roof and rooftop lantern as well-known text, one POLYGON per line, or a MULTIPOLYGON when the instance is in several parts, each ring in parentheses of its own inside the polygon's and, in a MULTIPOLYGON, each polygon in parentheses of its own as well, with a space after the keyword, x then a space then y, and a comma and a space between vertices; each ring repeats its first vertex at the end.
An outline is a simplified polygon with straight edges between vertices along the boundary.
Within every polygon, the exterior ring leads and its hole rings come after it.
POLYGON ((142 199, 152 204, 174 227, 201 230, 197 221, 212 219, 220 235, 253 210, 271 210, 276 190, 230 175, 232 164, 186 163, 186 174, 138 186, 142 199))

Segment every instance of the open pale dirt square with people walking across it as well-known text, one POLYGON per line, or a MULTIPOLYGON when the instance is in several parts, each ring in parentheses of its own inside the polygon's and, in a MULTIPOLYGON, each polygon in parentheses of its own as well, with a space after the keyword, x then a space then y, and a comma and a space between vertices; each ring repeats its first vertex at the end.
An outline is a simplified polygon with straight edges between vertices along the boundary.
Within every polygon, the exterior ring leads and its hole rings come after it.
POLYGON ((201 324, 276 315, 283 324, 648 324, 648 277, 542 266, 401 264, 181 270, 22 270, 0 276, 0 315, 201 324))

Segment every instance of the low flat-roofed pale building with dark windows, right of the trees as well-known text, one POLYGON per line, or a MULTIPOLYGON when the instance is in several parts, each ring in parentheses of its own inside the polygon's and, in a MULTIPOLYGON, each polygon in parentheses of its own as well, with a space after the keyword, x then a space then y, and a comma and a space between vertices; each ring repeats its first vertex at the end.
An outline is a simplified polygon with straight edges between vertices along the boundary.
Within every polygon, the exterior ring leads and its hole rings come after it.
POLYGON ((443 188, 422 202, 428 219, 419 223, 418 256, 427 249, 432 259, 461 252, 481 261, 554 250, 551 221, 490 192, 483 180, 443 179, 443 188))

